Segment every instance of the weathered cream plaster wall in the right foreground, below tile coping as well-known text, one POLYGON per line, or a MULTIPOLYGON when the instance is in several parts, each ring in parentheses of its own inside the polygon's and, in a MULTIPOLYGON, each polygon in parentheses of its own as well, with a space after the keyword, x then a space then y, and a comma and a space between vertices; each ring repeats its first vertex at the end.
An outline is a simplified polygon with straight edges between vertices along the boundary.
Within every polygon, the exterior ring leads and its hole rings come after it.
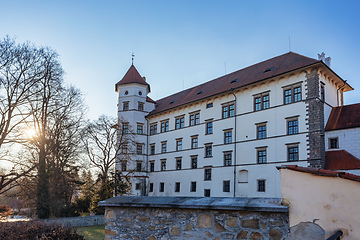
POLYGON ((281 169, 282 197, 290 203, 290 227, 314 219, 326 237, 341 229, 343 240, 360 239, 360 183, 281 169))

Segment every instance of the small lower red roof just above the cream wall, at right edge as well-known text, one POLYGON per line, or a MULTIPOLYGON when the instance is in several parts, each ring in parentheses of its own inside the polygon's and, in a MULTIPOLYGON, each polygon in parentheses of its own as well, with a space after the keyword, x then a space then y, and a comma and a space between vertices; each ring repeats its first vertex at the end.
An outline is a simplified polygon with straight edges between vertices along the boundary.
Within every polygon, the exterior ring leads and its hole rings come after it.
POLYGON ((360 169, 360 159, 346 150, 326 152, 326 170, 360 169))

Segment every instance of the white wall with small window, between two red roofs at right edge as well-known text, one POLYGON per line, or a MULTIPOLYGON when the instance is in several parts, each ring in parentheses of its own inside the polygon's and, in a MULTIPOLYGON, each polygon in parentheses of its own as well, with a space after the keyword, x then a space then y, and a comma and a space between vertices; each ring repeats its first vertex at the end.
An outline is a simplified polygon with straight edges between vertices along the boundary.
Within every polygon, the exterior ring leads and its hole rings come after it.
POLYGON ((346 150, 360 159, 360 128, 349 128, 325 132, 326 151, 346 150), (329 139, 338 138, 339 148, 329 149, 329 139))

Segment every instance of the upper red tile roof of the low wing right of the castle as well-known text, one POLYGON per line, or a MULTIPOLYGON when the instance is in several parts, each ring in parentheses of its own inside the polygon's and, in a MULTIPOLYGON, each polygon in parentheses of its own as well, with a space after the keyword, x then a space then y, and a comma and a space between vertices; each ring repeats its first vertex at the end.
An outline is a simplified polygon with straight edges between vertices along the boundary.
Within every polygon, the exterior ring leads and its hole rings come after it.
POLYGON ((334 107, 325 131, 360 127, 360 103, 334 107))

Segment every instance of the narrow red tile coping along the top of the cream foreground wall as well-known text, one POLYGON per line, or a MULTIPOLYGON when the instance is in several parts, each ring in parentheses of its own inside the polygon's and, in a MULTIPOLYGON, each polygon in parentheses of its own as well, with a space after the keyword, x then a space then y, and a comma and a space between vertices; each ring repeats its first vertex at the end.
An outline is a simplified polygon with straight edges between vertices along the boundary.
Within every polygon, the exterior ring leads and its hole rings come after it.
POLYGON ((339 177, 344 178, 356 182, 360 182, 360 176, 350 174, 347 172, 340 172, 340 171, 331 171, 331 170, 324 170, 320 168, 311 168, 311 167, 300 167, 297 165, 282 165, 280 167, 276 167, 277 169, 289 169, 292 171, 304 172, 304 173, 311 173, 317 176, 324 176, 324 177, 339 177))

